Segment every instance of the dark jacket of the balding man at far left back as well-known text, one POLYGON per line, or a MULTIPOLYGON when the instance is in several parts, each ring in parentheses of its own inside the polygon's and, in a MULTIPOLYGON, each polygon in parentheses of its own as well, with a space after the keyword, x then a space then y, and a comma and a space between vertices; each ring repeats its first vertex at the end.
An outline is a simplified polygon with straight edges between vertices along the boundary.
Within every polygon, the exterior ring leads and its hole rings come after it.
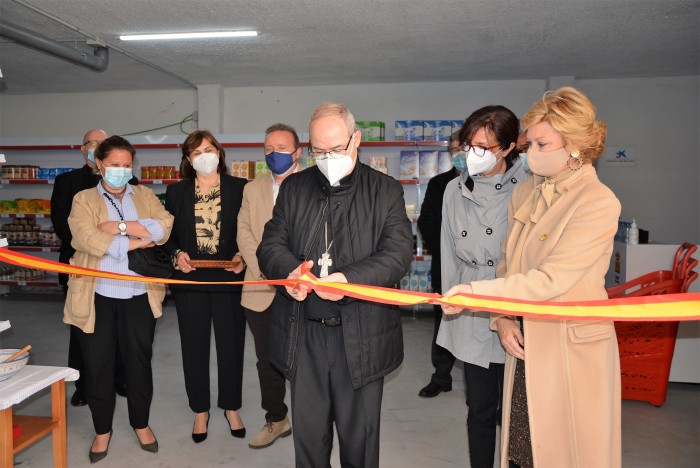
MULTIPOLYGON (((70 245, 73 240, 73 235, 68 227, 68 215, 73 206, 73 197, 78 192, 93 188, 102 180, 100 174, 93 174, 92 169, 87 164, 80 169, 64 172, 56 177, 51 193, 51 224, 56 235, 61 239, 61 247, 59 249, 58 261, 68 263, 68 260, 75 253, 75 249, 70 245)), ((131 185, 138 185, 139 181, 136 177, 132 177, 129 181, 131 185)), ((65 285, 68 281, 68 275, 59 274, 58 282, 65 285)))

